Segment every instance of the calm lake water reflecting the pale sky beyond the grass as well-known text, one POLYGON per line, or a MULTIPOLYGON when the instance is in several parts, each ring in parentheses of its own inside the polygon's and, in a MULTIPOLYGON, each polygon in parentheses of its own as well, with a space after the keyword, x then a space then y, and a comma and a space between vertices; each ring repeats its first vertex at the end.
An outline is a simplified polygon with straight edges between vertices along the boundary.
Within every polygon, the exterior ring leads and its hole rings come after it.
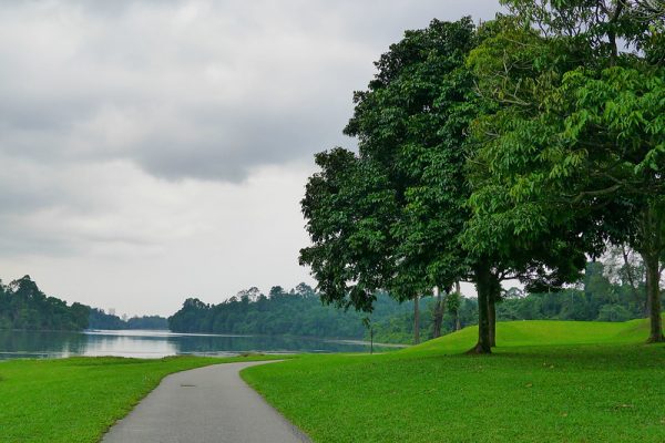
MULTIPOLYGON (((387 346, 376 346, 385 351, 387 346)), ((241 352, 369 352, 356 341, 293 337, 217 336, 168 331, 92 330, 43 332, 0 330, 0 360, 12 358, 63 358, 117 356, 162 358, 176 354, 231 356, 241 352)))

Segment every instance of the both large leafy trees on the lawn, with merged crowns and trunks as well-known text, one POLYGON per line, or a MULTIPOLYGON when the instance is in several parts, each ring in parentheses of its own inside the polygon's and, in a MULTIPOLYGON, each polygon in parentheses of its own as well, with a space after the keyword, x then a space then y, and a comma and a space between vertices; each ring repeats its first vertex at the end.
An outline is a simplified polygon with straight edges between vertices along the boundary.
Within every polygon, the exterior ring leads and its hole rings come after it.
POLYGON ((478 27, 408 31, 376 62, 344 131, 358 152, 315 156, 300 262, 326 302, 362 311, 377 290, 438 290, 440 317, 474 282, 472 352, 489 353, 501 281, 556 291, 620 247, 644 265, 648 341, 664 341, 663 2, 501 3, 478 27))

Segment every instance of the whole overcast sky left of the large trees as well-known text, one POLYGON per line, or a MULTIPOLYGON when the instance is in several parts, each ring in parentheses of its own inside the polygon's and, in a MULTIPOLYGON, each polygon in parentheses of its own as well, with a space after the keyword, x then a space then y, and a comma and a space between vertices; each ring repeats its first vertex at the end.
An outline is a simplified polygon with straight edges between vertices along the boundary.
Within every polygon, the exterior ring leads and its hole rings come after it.
POLYGON ((0 278, 116 313, 316 285, 299 200, 407 29, 498 0, 0 7, 0 278))

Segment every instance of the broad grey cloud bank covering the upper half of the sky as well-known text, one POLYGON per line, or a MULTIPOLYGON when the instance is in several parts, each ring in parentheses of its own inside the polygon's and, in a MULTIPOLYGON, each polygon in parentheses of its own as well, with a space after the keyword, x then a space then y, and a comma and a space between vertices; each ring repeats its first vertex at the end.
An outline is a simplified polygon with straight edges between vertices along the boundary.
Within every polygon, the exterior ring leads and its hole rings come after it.
POLYGON ((0 152, 245 179, 348 144, 351 92, 405 28, 493 1, 57 1, 0 12, 0 152), (444 6, 443 6, 444 4, 444 6), (20 18, 21 20, 17 20, 20 18))

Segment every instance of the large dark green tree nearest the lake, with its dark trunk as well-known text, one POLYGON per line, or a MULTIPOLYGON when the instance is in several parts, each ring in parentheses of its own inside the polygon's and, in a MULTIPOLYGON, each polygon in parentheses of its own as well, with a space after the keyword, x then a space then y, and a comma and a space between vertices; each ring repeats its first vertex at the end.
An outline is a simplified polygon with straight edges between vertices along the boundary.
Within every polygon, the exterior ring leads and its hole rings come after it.
POLYGON ((326 300, 360 309, 371 309, 377 288, 417 299, 433 287, 474 281, 474 351, 490 352, 502 278, 557 285, 584 259, 551 239, 543 247, 544 238, 538 247, 514 244, 491 254, 462 247, 471 192, 464 165, 475 148, 468 127, 492 107, 475 94, 466 66, 478 39, 470 19, 434 20, 408 31, 376 63, 378 73, 356 93, 345 130, 358 138, 358 155, 338 148, 316 157, 321 172, 303 200, 313 246, 300 261, 311 266, 326 300))

